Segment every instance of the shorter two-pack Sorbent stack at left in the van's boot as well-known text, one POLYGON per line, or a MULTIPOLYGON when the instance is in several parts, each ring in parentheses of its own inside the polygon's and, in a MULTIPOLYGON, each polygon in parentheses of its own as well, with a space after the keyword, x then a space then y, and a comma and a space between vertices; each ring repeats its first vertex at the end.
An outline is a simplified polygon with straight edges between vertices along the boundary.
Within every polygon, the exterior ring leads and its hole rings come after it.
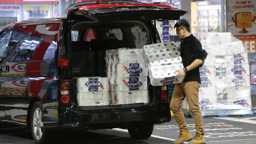
POLYGON ((109 105, 109 78, 79 77, 74 81, 78 106, 109 105))

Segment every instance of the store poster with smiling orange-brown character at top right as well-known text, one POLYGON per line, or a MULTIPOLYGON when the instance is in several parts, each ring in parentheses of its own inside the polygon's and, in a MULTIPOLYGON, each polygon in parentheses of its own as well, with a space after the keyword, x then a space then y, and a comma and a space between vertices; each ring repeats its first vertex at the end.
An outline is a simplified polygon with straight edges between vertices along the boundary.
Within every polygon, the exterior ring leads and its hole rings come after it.
POLYGON ((243 41, 248 53, 255 53, 256 0, 227 0, 227 31, 243 41))

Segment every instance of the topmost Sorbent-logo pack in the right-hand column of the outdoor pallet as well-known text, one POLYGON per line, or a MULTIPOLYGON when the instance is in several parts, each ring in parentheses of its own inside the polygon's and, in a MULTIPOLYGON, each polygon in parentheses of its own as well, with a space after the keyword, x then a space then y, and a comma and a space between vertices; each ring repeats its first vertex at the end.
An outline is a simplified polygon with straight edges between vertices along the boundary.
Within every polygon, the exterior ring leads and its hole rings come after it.
POLYGON ((241 65, 249 63, 247 52, 243 52, 241 54, 226 55, 225 57, 228 65, 241 65))

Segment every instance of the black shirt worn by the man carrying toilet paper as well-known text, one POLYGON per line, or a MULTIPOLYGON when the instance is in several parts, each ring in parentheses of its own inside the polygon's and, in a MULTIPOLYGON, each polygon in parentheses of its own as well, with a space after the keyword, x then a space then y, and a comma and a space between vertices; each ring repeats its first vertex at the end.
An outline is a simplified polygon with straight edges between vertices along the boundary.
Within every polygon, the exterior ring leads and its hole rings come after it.
MULTIPOLYGON (((185 39, 182 39, 180 43, 180 56, 182 57, 183 66, 189 66, 195 59, 203 59, 202 45, 200 41, 192 34, 185 39), (194 58, 192 58, 192 54, 194 58)), ((183 82, 198 81, 200 80, 199 66, 187 72, 187 75, 183 82)))

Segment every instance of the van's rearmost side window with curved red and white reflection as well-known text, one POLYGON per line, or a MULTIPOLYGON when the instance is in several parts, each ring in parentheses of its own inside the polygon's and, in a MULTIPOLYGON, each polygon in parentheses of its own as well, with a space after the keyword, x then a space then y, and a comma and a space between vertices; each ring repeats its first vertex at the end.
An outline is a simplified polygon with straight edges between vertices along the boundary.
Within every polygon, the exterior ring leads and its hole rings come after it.
POLYGON ((60 24, 39 24, 35 29, 31 46, 31 59, 54 59, 60 24))

